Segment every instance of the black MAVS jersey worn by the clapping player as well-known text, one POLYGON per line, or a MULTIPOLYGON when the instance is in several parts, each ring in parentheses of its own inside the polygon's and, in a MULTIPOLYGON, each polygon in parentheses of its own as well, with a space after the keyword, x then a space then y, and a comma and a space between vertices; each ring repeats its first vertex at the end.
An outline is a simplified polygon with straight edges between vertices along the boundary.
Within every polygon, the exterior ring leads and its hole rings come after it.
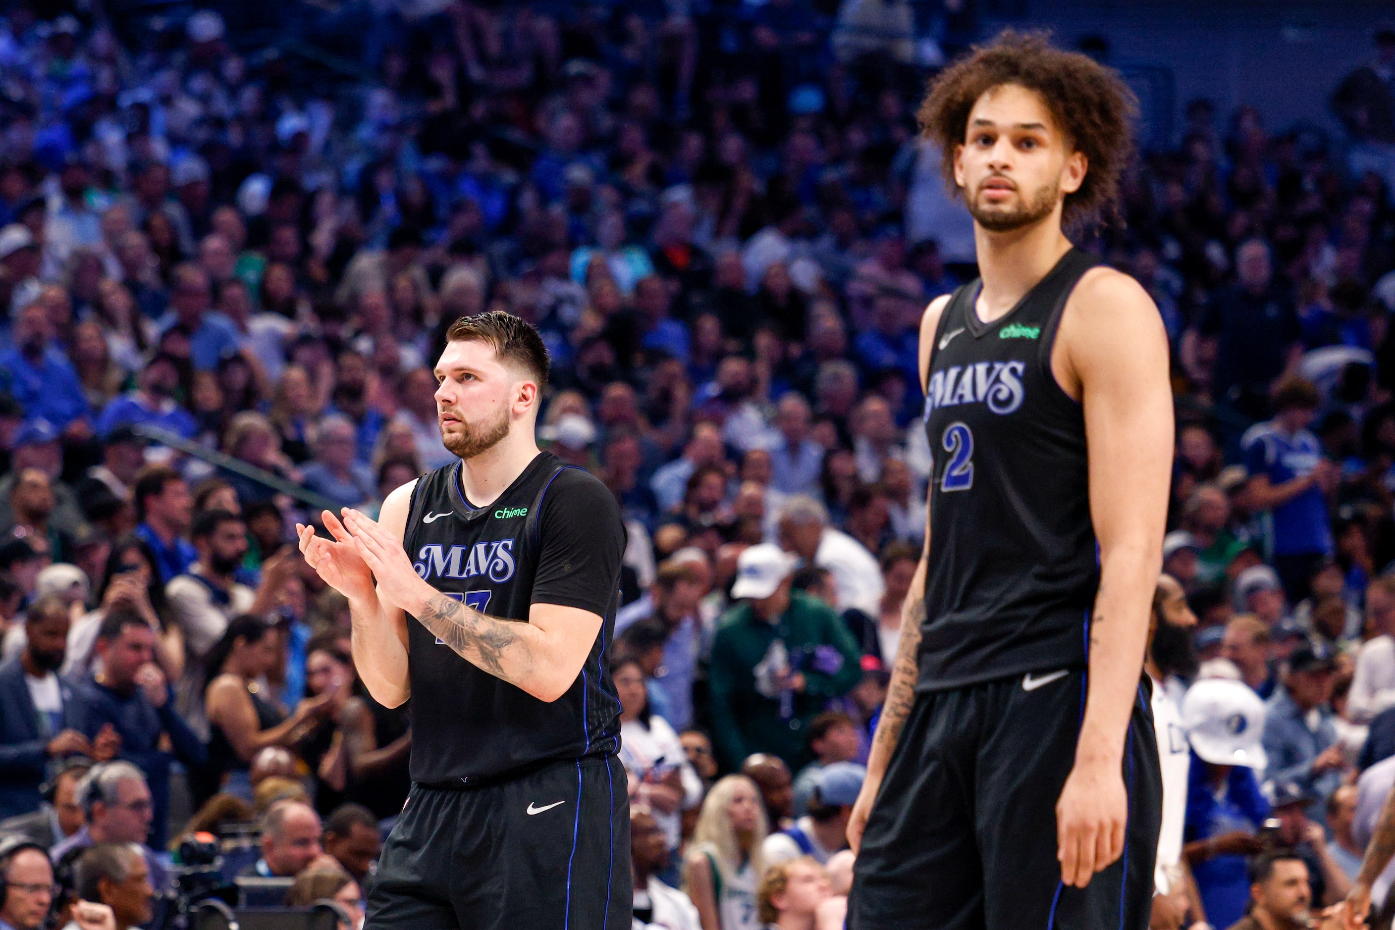
POLYGON ((460 658, 409 615, 413 781, 465 786, 617 752, 605 651, 625 530, 604 484, 543 452, 494 503, 474 508, 460 464, 445 466, 417 481, 403 547, 432 587, 495 619, 527 622, 534 602, 604 618, 576 680, 547 703, 460 658))

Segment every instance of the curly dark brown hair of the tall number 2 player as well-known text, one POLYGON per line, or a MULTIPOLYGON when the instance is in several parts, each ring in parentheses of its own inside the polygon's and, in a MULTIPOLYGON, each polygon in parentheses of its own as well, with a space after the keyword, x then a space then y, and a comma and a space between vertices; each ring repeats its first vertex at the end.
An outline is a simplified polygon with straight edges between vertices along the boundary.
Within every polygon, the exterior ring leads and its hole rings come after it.
POLYGON ((1066 195, 1064 224, 1119 222, 1119 176, 1134 153, 1130 120, 1138 99, 1117 71, 1053 47, 1045 32, 1004 29, 930 81, 917 116, 921 134, 940 146, 950 190, 963 195, 954 183, 954 149, 964 144, 970 112, 985 92, 1004 84, 1041 95, 1070 145, 1085 156, 1085 180, 1066 195))

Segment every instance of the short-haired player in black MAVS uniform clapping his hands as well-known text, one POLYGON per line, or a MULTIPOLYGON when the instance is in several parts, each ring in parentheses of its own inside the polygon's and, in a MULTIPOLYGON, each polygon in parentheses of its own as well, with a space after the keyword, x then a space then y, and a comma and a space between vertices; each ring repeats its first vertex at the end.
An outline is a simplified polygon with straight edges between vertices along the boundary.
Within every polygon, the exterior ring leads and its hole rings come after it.
POLYGON ((533 438, 548 358, 502 312, 455 322, 437 363, 460 457, 388 495, 377 521, 297 526, 349 598, 368 692, 412 697, 412 793, 367 926, 629 927, 619 700, 603 657, 625 531, 614 495, 533 438), (374 584, 377 581, 377 586, 374 584))

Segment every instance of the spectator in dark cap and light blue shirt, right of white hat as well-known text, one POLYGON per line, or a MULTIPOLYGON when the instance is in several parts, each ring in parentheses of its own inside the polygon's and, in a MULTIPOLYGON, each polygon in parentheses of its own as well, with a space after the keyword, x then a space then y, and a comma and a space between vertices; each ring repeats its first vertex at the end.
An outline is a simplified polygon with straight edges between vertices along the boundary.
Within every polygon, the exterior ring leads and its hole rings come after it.
POLYGON ((1346 764, 1332 722, 1336 660, 1320 643, 1300 646, 1288 662, 1283 686, 1269 699, 1264 718, 1264 777, 1292 784, 1313 802, 1310 814, 1322 817, 1321 800, 1342 784, 1346 764))

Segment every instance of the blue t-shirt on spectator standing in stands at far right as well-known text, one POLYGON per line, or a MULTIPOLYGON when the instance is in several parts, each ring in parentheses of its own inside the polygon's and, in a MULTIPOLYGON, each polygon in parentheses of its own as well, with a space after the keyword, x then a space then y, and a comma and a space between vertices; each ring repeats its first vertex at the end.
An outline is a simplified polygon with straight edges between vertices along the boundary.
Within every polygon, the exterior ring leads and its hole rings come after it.
MULTIPOLYGON (((1307 429, 1285 435, 1278 422, 1257 422, 1240 438, 1244 466, 1251 475, 1267 475, 1271 485, 1300 478, 1317 467, 1322 446, 1307 429)), ((1311 487, 1288 503, 1274 508, 1274 555, 1332 554, 1327 501, 1311 487)))

